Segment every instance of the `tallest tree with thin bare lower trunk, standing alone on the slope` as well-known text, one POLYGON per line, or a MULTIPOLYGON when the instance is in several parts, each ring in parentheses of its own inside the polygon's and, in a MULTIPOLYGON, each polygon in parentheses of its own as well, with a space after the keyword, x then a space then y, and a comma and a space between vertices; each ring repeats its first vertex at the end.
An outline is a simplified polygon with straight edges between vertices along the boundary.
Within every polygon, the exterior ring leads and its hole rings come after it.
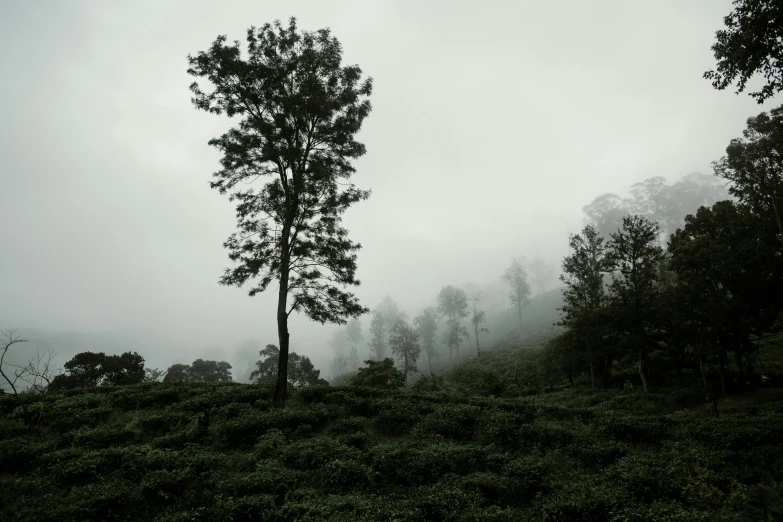
POLYGON ((365 153, 354 135, 370 113, 372 79, 360 83, 358 66, 341 67, 342 48, 328 29, 300 34, 295 18, 287 29, 280 21, 251 27, 247 59, 239 41, 225 42, 219 36, 209 50, 188 56, 188 73, 213 87, 190 86, 196 108, 239 119, 209 141, 223 154, 210 186, 237 201, 238 231, 224 246, 238 266, 226 269, 220 283, 257 279, 253 296, 278 281, 275 404, 283 407, 291 313, 345 324, 367 311, 345 290, 359 284, 361 245, 348 239, 341 221, 370 194, 348 180, 355 172, 350 160, 365 153), (259 178, 269 180, 248 187, 259 178))

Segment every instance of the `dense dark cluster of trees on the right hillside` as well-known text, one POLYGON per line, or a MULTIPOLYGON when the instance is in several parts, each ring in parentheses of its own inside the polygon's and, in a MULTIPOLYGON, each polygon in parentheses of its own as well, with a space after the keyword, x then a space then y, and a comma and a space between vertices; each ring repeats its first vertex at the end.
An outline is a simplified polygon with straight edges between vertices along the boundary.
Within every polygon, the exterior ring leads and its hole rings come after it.
MULTIPOLYGON (((571 236, 567 331, 550 344, 569 379, 586 372, 591 385, 605 386, 633 362, 645 390, 669 369, 692 369, 709 390, 714 368, 725 395, 730 370, 746 382, 758 369, 758 340, 783 329, 783 107, 749 118, 713 169, 734 199, 699 206, 665 248, 672 221, 655 218, 671 215, 666 205, 623 216, 608 237, 598 219, 571 236)), ((648 182, 642 188, 661 188, 648 182)), ((710 185, 697 186, 706 197, 710 185)), ((666 192, 648 191, 647 200, 666 192)))

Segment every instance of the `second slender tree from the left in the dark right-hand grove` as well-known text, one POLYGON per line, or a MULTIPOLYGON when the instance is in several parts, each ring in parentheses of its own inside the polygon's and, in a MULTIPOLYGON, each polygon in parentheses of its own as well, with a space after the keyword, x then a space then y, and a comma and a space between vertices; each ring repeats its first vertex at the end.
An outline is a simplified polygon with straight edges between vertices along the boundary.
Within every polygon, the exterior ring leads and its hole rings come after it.
POLYGON ((623 227, 607 244, 608 271, 612 273, 610 298, 618 330, 636 351, 639 376, 648 392, 647 353, 650 330, 655 326, 659 267, 663 250, 658 244, 660 227, 644 216, 626 216, 623 227))

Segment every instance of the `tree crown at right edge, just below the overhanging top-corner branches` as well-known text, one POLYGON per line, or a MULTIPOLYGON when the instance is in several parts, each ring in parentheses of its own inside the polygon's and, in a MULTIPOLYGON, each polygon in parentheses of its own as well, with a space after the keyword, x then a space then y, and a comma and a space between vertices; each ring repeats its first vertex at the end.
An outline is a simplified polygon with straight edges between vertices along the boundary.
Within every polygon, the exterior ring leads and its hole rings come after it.
POLYGON ((742 135, 731 140, 726 156, 712 168, 731 182, 732 195, 759 214, 774 216, 783 244, 783 106, 748 118, 742 135))

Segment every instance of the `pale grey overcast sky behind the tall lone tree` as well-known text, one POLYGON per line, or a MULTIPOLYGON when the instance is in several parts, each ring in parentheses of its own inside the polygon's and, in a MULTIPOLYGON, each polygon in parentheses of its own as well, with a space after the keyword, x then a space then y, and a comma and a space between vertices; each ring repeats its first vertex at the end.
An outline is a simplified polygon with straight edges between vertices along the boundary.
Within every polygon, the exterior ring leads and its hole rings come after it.
MULTIPOLYGON (((651 176, 711 173, 776 106, 702 73, 731 0, 0 3, 0 326, 165 334, 189 362, 275 342, 276 294, 217 280, 232 204, 209 188, 225 118, 198 112, 188 54, 296 16, 374 79, 345 224, 357 295, 409 314, 511 256, 559 265, 582 206, 651 176), (212 347, 212 348, 208 348, 212 347), (215 348, 218 347, 218 348, 215 348), (220 348, 222 347, 222 348, 220 348), (201 351, 200 351, 201 350, 201 351), (195 355, 191 357, 191 355, 195 355)), ((777 102, 779 103, 779 102, 777 102)), ((303 317, 292 347, 316 355, 303 317)), ((160 363, 159 363, 160 364, 160 363)))

